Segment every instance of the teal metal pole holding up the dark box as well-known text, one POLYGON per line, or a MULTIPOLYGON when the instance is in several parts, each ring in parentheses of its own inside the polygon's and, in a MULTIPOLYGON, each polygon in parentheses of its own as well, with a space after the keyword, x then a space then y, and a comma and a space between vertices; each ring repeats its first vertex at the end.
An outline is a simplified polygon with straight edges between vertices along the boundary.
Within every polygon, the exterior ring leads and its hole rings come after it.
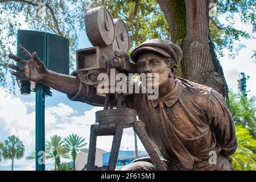
POLYGON ((44 85, 36 83, 36 171, 45 171, 44 85))

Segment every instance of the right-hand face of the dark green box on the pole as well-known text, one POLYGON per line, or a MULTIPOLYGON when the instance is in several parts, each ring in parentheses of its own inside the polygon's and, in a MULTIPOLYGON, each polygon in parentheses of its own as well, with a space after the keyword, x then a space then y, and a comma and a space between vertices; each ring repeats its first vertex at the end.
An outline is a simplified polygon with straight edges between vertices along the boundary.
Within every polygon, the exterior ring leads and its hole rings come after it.
POLYGON ((47 34, 47 69, 69 75, 69 42, 62 36, 47 34))

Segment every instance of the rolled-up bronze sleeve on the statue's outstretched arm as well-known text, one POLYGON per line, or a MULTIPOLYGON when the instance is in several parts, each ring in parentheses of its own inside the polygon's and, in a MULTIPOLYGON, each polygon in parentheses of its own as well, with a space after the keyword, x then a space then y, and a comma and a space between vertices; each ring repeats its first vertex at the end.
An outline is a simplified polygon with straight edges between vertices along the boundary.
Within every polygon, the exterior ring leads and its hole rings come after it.
POLYGON ((80 80, 79 90, 75 95, 67 95, 69 100, 85 102, 93 106, 104 106, 105 97, 98 96, 97 90, 92 85, 87 85, 82 82, 77 71, 71 73, 71 76, 76 76, 80 80))

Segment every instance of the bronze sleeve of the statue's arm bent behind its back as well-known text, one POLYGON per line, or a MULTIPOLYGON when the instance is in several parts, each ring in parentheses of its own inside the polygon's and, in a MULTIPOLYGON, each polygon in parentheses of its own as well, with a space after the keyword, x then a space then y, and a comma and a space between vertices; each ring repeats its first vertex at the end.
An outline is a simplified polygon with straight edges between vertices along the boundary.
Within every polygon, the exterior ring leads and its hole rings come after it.
POLYGON ((221 146, 221 154, 224 156, 234 154, 237 148, 236 130, 224 97, 212 90, 207 103, 210 127, 214 131, 217 143, 221 146))

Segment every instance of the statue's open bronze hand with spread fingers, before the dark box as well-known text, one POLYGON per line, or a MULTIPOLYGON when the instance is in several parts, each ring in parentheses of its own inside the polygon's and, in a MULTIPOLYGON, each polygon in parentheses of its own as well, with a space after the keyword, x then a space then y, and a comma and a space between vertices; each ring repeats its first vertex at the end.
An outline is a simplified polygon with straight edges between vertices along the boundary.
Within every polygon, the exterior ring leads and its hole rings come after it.
POLYGON ((14 64, 9 64, 9 68, 15 69, 18 72, 12 71, 11 74, 14 76, 18 76, 20 78, 26 78, 27 80, 31 80, 34 82, 42 82, 44 76, 47 73, 47 69, 43 63, 43 61, 39 60, 36 52, 31 53, 28 52, 24 47, 21 45, 18 46, 19 50, 27 57, 28 61, 23 60, 21 57, 18 57, 13 54, 9 54, 10 59, 18 61, 20 64, 24 65, 23 67, 19 67, 14 64))

